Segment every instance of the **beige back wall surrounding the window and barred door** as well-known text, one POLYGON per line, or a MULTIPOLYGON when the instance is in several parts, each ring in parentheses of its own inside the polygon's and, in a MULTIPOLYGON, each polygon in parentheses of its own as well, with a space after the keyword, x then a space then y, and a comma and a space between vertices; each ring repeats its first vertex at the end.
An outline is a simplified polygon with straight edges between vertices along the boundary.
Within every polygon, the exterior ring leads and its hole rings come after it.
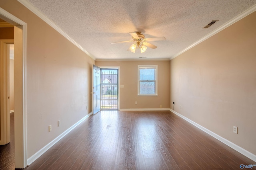
POLYGON ((120 66, 120 85, 124 85, 120 88, 120 109, 170 107, 170 61, 96 61, 96 65, 120 66), (157 97, 138 97, 138 65, 158 65, 157 97))

